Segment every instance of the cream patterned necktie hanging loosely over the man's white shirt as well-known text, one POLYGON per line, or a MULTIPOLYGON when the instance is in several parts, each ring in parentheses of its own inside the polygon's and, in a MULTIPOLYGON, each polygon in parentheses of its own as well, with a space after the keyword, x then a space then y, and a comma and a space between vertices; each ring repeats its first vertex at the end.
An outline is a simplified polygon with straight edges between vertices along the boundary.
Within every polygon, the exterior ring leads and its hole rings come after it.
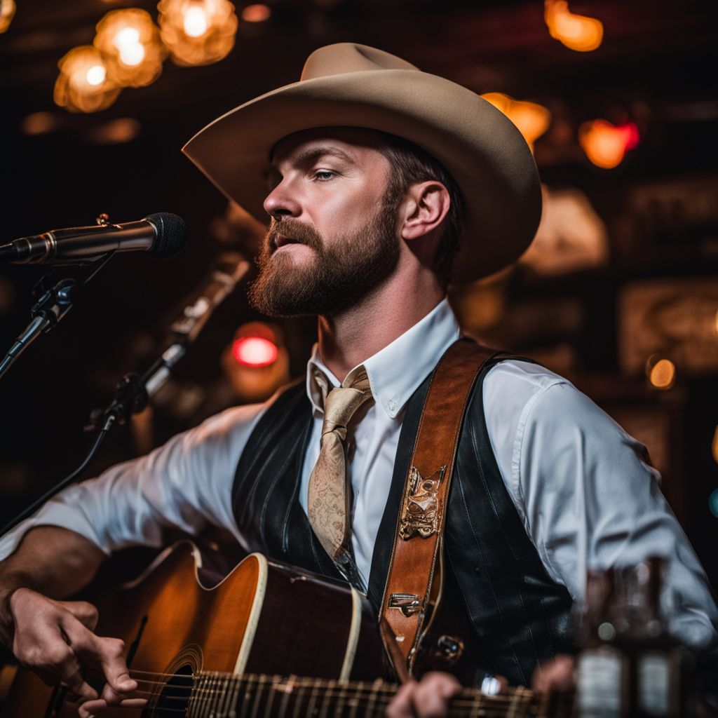
MULTIPOLYGON (((346 380, 345 380, 346 382, 346 380)), ((369 378, 362 368, 349 383, 332 389, 324 401, 319 458, 309 476, 307 515, 325 551, 355 587, 363 589, 351 545, 351 483, 347 475, 347 425, 371 398, 369 378)))

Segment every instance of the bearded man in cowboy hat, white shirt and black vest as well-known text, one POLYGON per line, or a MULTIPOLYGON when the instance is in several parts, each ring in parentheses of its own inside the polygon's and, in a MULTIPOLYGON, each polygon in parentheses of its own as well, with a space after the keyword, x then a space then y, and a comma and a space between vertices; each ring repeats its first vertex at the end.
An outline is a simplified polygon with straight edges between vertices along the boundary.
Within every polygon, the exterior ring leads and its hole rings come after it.
MULTIPOLYGON (((344 576, 381 602, 428 379, 460 336, 449 276, 516 259, 540 214, 531 153, 501 113, 359 45, 317 50, 299 83, 219 118, 185 151, 225 194, 269 215, 251 298, 267 314, 317 314, 318 343, 305 385, 68 490, 2 542, 2 637, 81 696, 84 716, 133 704, 136 684, 122 646, 91 632, 93 608, 56 599, 113 549, 159 545, 164 526, 225 526, 247 549, 344 576), (357 399, 332 444, 350 492, 324 470, 325 409, 342 391, 357 399), (99 697, 83 679, 88 664, 106 675, 99 697)), ((716 640, 707 579, 641 456, 559 376, 518 360, 482 373, 445 538, 488 668, 530 682, 568 643, 587 567, 657 553, 676 599, 672 630, 692 645, 716 640)), ((441 714, 456 689, 442 675, 407 684, 390 714, 441 714)))

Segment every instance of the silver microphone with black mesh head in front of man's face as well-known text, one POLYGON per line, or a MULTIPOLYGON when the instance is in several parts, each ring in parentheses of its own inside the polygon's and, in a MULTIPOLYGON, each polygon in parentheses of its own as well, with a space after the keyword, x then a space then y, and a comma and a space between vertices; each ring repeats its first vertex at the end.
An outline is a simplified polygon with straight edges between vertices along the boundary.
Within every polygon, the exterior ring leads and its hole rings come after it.
POLYGON ((187 243, 187 225, 169 212, 149 215, 137 222, 110 224, 106 215, 90 227, 53 229, 21 237, 0 246, 0 261, 11 264, 87 264, 108 252, 144 251, 167 259, 187 243))

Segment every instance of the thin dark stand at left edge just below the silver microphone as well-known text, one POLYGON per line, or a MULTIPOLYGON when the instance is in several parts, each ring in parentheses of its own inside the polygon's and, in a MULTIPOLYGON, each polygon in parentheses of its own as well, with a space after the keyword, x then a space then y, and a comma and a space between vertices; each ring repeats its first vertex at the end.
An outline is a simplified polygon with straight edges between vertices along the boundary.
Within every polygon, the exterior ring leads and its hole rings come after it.
POLYGON ((83 281, 78 282, 77 279, 67 277, 67 279, 60 279, 55 286, 45 289, 45 291, 43 291, 45 277, 39 281, 35 287, 35 292, 36 295, 40 294, 40 292, 42 294, 30 309, 32 321, 27 325, 24 332, 17 337, 4 359, 0 362, 0 379, 39 335, 57 327, 65 314, 73 308, 73 299, 80 288, 85 286, 111 260, 114 253, 114 250, 108 252, 95 271, 83 281))

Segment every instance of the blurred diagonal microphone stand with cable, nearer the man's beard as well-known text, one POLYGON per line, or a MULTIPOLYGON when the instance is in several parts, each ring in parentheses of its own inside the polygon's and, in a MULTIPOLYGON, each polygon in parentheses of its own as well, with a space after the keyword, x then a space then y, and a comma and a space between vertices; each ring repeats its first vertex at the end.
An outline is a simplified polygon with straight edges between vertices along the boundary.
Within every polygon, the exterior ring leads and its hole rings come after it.
MULTIPOLYGON (((103 260, 103 264, 106 261, 103 260)), ((206 294, 209 294, 209 298, 204 295, 198 297, 195 302, 185 307, 182 317, 172 325, 174 334, 172 345, 162 353, 162 356, 142 376, 136 373, 123 376, 117 385, 113 400, 106 409, 95 409, 90 414, 90 423, 85 426, 85 431, 97 431, 98 433, 92 447, 90 447, 90 451, 80 466, 34 501, 32 505, 29 505, 19 516, 7 523, 0 531, 0 537, 5 536, 19 523, 32 516, 39 508, 42 508, 53 496, 73 483, 88 467, 90 461, 93 460, 109 430, 116 423, 124 424, 132 414, 138 414, 147 406, 149 398, 154 396, 154 393, 159 390, 160 386, 169 377, 174 365, 187 353, 187 347, 197 339, 197 335, 204 328, 215 307, 218 307, 228 297, 228 294, 235 289, 238 281, 243 279, 250 269, 249 262, 241 259, 237 254, 228 253, 223 255, 220 257, 220 263, 222 261, 224 266, 220 264, 212 273, 212 284, 210 284, 206 292, 206 294)), ((97 271, 99 271, 99 268, 97 271)), ((94 276, 97 271, 93 272, 88 279, 94 276)), ((65 313, 67 313, 67 310, 65 310, 65 313)))

